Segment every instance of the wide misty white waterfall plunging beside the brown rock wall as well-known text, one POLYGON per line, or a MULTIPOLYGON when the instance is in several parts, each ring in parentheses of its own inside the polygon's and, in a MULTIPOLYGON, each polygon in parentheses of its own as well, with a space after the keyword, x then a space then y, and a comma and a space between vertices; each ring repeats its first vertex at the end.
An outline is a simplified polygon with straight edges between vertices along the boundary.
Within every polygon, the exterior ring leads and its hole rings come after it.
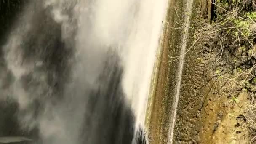
POLYGON ((0 86, 11 82, 0 96, 18 104, 17 129, 39 144, 131 144, 134 133, 139 139, 167 6, 31 1, 3 46, 3 75, 11 80, 0 75, 0 86))

